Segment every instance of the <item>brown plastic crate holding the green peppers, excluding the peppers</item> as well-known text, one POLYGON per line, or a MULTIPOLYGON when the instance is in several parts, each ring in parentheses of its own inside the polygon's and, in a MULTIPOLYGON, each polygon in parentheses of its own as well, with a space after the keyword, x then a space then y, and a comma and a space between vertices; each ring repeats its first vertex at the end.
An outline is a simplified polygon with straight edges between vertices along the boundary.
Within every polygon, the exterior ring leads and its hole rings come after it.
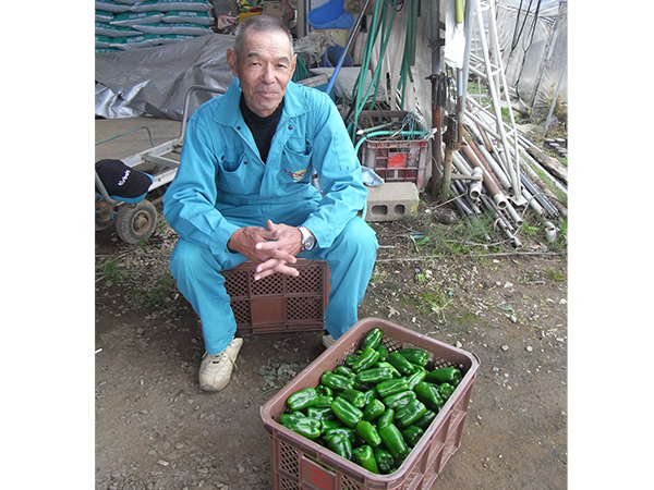
POLYGON ((387 320, 359 321, 334 345, 279 390, 262 408, 264 428, 270 437, 272 489, 291 490, 408 490, 428 489, 461 444, 463 421, 480 362, 476 355, 438 342, 387 320), (365 335, 378 327, 384 344, 392 352, 415 346, 429 352, 428 369, 459 366, 463 379, 443 406, 407 460, 390 475, 376 475, 279 424, 286 401, 298 390, 317 387, 320 376, 344 364, 365 335))

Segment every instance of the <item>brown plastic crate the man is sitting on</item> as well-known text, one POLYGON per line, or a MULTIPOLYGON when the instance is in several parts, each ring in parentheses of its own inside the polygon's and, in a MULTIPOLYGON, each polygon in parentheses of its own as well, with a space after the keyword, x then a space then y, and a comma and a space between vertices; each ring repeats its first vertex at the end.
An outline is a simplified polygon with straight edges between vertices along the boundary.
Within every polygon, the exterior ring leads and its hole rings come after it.
POLYGON ((329 268, 323 260, 298 259, 300 275, 279 272, 254 281, 247 260, 222 271, 225 289, 241 334, 311 332, 325 329, 329 268))

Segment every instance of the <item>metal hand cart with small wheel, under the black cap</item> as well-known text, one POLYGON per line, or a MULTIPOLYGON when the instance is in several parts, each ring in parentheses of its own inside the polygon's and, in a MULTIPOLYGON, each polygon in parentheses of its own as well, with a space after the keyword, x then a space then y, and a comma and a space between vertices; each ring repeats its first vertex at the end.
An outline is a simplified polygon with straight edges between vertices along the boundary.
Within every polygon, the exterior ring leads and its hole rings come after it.
POLYGON ((152 184, 141 199, 125 199, 117 195, 110 195, 105 185, 106 183, 102 182, 102 179, 96 169, 96 231, 107 230, 116 224, 118 236, 129 244, 146 242, 154 233, 157 225, 157 209, 155 208, 155 204, 161 199, 166 187, 172 182, 177 174, 182 145, 186 134, 186 125, 191 115, 189 113, 191 96, 199 90, 214 94, 225 93, 225 89, 222 88, 204 85, 194 85, 189 88, 186 96, 184 97, 182 126, 178 138, 155 146, 149 130, 146 126, 141 126, 136 130, 96 143, 96 146, 98 146, 102 143, 134 133, 135 131, 146 130, 150 136, 150 144, 153 146, 149 149, 121 160, 122 163, 130 169, 150 176, 152 184))

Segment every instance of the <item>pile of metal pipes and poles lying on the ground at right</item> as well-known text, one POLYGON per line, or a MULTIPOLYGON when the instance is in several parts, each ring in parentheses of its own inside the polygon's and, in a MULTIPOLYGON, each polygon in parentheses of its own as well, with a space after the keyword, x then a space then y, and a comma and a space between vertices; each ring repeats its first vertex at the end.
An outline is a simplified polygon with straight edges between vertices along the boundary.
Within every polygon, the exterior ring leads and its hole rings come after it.
MULTIPOLYGON (((517 132, 513 133, 517 142, 502 145, 496 128, 496 118, 468 99, 460 125, 460 145, 458 150, 451 151, 449 191, 452 201, 461 216, 472 221, 489 213, 516 248, 522 247, 519 231, 528 210, 543 221, 549 240, 556 235, 554 222, 567 217, 565 201, 568 189, 531 157, 530 150, 541 151, 535 145, 517 132), (506 148, 511 154, 510 158, 507 158, 506 148), (518 182, 512 179, 518 167, 511 163, 517 159, 520 171, 518 193, 512 184, 518 182)), ((447 142, 448 138, 444 139, 447 142)))

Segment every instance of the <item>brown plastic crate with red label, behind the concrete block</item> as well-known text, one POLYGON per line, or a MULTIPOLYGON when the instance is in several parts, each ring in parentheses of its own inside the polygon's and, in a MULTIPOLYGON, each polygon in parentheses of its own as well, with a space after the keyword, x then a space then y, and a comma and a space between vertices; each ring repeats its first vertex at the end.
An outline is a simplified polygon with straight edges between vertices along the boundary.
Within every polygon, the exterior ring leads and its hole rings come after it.
POLYGON ((366 139, 361 161, 384 182, 413 182, 419 192, 427 185, 426 139, 366 139))

